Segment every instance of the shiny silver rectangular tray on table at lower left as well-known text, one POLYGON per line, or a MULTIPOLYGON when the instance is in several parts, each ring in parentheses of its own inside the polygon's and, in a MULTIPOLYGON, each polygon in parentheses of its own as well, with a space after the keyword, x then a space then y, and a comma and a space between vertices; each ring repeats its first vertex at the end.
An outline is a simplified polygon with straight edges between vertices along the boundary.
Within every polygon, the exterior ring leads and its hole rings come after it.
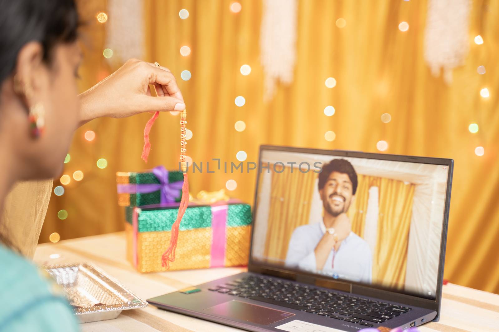
POLYGON ((43 267, 61 286, 81 323, 115 319, 122 310, 139 309, 147 302, 90 264, 43 267))

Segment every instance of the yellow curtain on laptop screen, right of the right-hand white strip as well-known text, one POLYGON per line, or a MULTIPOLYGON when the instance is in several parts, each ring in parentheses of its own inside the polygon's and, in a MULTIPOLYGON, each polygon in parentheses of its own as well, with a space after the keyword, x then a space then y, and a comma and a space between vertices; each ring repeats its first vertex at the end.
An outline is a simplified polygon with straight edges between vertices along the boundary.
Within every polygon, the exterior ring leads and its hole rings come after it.
POLYGON ((380 178, 378 239, 373 280, 402 289, 407 271, 407 247, 415 185, 380 178))

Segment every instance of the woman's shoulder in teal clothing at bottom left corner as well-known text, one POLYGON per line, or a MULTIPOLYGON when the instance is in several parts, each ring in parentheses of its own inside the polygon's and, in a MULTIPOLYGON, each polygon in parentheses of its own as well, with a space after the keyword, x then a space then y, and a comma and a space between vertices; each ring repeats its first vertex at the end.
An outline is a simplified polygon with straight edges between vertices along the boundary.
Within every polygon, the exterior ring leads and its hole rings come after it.
POLYGON ((0 245, 0 271, 0 326, 5 331, 78 331, 62 290, 43 270, 0 245))

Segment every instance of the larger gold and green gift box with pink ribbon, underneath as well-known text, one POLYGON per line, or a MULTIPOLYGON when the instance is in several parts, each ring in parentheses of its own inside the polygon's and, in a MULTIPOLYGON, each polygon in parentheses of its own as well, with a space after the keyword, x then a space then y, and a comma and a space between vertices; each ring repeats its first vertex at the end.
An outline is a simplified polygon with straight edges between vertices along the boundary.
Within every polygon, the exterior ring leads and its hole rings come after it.
MULTIPOLYGON (((179 204, 126 207, 127 258, 139 272, 166 271, 168 247, 179 204)), ((175 261, 169 270, 241 266, 250 252, 250 205, 239 201, 190 204, 180 223, 175 261)))

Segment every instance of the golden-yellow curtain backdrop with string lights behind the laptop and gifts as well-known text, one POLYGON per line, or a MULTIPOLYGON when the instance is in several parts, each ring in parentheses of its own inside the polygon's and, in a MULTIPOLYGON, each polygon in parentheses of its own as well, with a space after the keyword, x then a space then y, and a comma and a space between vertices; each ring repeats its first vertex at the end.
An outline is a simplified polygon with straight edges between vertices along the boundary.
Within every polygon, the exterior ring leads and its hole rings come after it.
MULTIPOLYGON (((188 154, 196 161, 237 162, 236 153, 244 150, 247 161, 257 162, 262 143, 377 152, 376 142, 386 140, 388 153, 454 158, 444 275, 453 283, 499 293, 499 264, 491 265, 499 252, 499 1, 472 2, 470 50, 446 84, 432 76, 424 60, 427 1, 299 0, 294 80, 279 85, 268 103, 262 98, 259 58, 261 1, 240 0, 237 14, 229 9, 231 1, 144 1, 144 59, 167 66, 178 78, 193 131, 188 154), (181 8, 189 10, 189 18, 180 19, 181 8), (335 25, 339 17, 346 20, 341 29, 335 25), (408 31, 398 29, 401 21, 409 23, 408 31), (473 42, 478 34, 483 45, 473 42), (192 50, 187 57, 179 52, 183 45, 192 50), (250 65, 250 75, 239 72, 243 64, 250 65), (477 74, 480 65, 485 75, 477 74), (180 79, 183 70, 191 71, 189 81, 180 79), (333 89, 324 85, 328 77, 337 81, 333 89), (489 89, 489 98, 480 97, 482 88, 489 89), (234 104, 237 96, 246 99, 242 108, 234 104), (328 105, 336 110, 330 117, 323 112, 328 105), (385 112, 392 116, 389 123, 380 121, 385 112), (246 123, 242 132, 234 129, 238 120, 246 123), (468 131, 473 122, 480 126, 476 134, 468 131), (336 134, 332 142, 324 139, 328 130, 336 134), (482 157, 474 154, 479 145, 485 147, 482 157)), ((105 1, 81 2, 88 18, 83 91, 119 61, 110 65, 102 56, 106 23, 98 24, 95 14, 106 11, 105 1)), ((178 167, 178 117, 169 114, 161 114, 151 132, 149 164, 140 160, 149 116, 102 118, 76 132, 64 174, 79 169, 85 178, 66 186, 63 196, 52 195, 42 242, 54 231, 66 239, 123 229, 115 172, 178 167), (93 142, 83 138, 89 129, 97 135, 93 142), (106 169, 96 168, 98 158, 108 160, 106 169), (57 218, 61 209, 68 211, 64 221, 57 218)), ((195 194, 234 179, 238 187, 231 195, 252 203, 255 176, 216 172, 190 174, 190 180, 195 194)))

